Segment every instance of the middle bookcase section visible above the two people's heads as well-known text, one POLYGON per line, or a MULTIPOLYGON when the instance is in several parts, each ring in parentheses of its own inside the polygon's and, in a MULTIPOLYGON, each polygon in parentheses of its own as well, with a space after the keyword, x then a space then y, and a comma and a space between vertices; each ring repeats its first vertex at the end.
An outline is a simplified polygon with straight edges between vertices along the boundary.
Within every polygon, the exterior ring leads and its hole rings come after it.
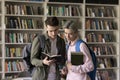
POLYGON ((62 25, 67 20, 78 21, 78 27, 81 30, 83 26, 83 4, 82 3, 61 3, 61 2, 47 2, 46 17, 56 16, 59 19, 60 30, 62 31, 62 25))

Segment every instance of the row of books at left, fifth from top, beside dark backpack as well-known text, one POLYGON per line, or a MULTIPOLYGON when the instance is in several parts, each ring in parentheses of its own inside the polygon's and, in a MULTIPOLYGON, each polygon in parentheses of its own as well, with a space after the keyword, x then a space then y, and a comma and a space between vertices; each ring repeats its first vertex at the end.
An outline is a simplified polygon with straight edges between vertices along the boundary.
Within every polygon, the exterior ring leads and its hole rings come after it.
POLYGON ((25 64, 22 61, 5 61, 5 71, 24 71, 26 69, 25 64))

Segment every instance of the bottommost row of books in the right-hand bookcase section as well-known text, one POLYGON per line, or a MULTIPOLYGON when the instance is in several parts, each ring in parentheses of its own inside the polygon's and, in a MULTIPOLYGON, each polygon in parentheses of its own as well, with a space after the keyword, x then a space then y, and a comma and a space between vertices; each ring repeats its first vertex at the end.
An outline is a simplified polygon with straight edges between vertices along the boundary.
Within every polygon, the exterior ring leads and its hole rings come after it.
POLYGON ((113 70, 97 70, 95 80, 116 80, 116 73, 113 70))

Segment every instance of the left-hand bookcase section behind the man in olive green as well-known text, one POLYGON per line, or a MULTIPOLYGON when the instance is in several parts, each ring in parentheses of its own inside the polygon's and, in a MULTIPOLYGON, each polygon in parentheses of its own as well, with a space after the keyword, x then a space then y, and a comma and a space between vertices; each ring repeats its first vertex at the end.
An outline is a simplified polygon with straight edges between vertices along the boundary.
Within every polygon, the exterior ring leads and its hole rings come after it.
POLYGON ((43 31, 44 2, 5 0, 4 3, 4 76, 15 78, 24 70, 22 49, 33 36, 43 31))

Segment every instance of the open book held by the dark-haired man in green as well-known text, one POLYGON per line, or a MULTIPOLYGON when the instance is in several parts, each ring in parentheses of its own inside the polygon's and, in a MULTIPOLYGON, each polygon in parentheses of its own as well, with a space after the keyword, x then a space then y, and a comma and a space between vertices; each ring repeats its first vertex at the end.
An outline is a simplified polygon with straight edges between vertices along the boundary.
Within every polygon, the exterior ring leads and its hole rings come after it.
POLYGON ((61 61, 61 58, 62 58, 62 56, 61 55, 49 55, 49 54, 47 54, 47 53, 44 53, 44 52, 42 52, 42 58, 44 59, 45 57, 48 57, 48 60, 55 60, 55 61, 58 61, 58 62, 60 62, 61 61))

